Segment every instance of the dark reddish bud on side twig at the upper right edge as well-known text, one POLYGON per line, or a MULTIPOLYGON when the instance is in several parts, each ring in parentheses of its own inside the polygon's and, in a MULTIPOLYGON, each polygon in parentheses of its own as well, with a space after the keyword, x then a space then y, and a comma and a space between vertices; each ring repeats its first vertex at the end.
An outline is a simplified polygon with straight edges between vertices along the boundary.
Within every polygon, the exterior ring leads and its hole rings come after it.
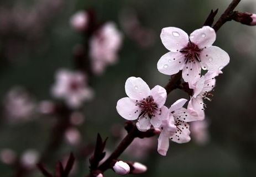
POLYGON ((233 15, 233 20, 240 22, 245 25, 254 26, 256 25, 256 14, 247 13, 247 12, 236 12, 233 15))

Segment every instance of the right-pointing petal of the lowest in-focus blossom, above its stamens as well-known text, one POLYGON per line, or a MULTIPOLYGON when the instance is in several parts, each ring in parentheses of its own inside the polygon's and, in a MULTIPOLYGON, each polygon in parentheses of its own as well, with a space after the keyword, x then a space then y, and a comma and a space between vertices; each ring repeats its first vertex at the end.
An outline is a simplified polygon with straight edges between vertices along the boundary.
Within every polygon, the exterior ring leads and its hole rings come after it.
POLYGON ((200 117, 192 115, 189 110, 185 108, 180 108, 173 113, 175 120, 191 122, 200 120, 200 117))

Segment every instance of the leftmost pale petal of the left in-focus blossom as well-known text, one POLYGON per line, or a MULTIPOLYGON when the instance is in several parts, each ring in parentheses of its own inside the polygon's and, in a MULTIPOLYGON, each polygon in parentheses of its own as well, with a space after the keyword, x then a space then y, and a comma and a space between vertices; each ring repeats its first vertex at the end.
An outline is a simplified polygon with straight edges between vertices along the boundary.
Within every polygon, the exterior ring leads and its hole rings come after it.
POLYGON ((138 119, 140 109, 130 98, 122 98, 117 101, 117 112, 126 120, 138 119))

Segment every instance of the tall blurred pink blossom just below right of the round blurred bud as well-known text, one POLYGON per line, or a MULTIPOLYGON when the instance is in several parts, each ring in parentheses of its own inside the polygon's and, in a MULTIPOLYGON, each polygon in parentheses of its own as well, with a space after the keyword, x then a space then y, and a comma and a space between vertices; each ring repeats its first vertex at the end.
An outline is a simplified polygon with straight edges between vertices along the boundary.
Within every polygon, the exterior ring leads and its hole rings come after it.
POLYGON ((122 45, 122 34, 112 22, 104 24, 90 40, 90 57, 95 74, 101 74, 107 65, 117 61, 117 52, 122 45))

